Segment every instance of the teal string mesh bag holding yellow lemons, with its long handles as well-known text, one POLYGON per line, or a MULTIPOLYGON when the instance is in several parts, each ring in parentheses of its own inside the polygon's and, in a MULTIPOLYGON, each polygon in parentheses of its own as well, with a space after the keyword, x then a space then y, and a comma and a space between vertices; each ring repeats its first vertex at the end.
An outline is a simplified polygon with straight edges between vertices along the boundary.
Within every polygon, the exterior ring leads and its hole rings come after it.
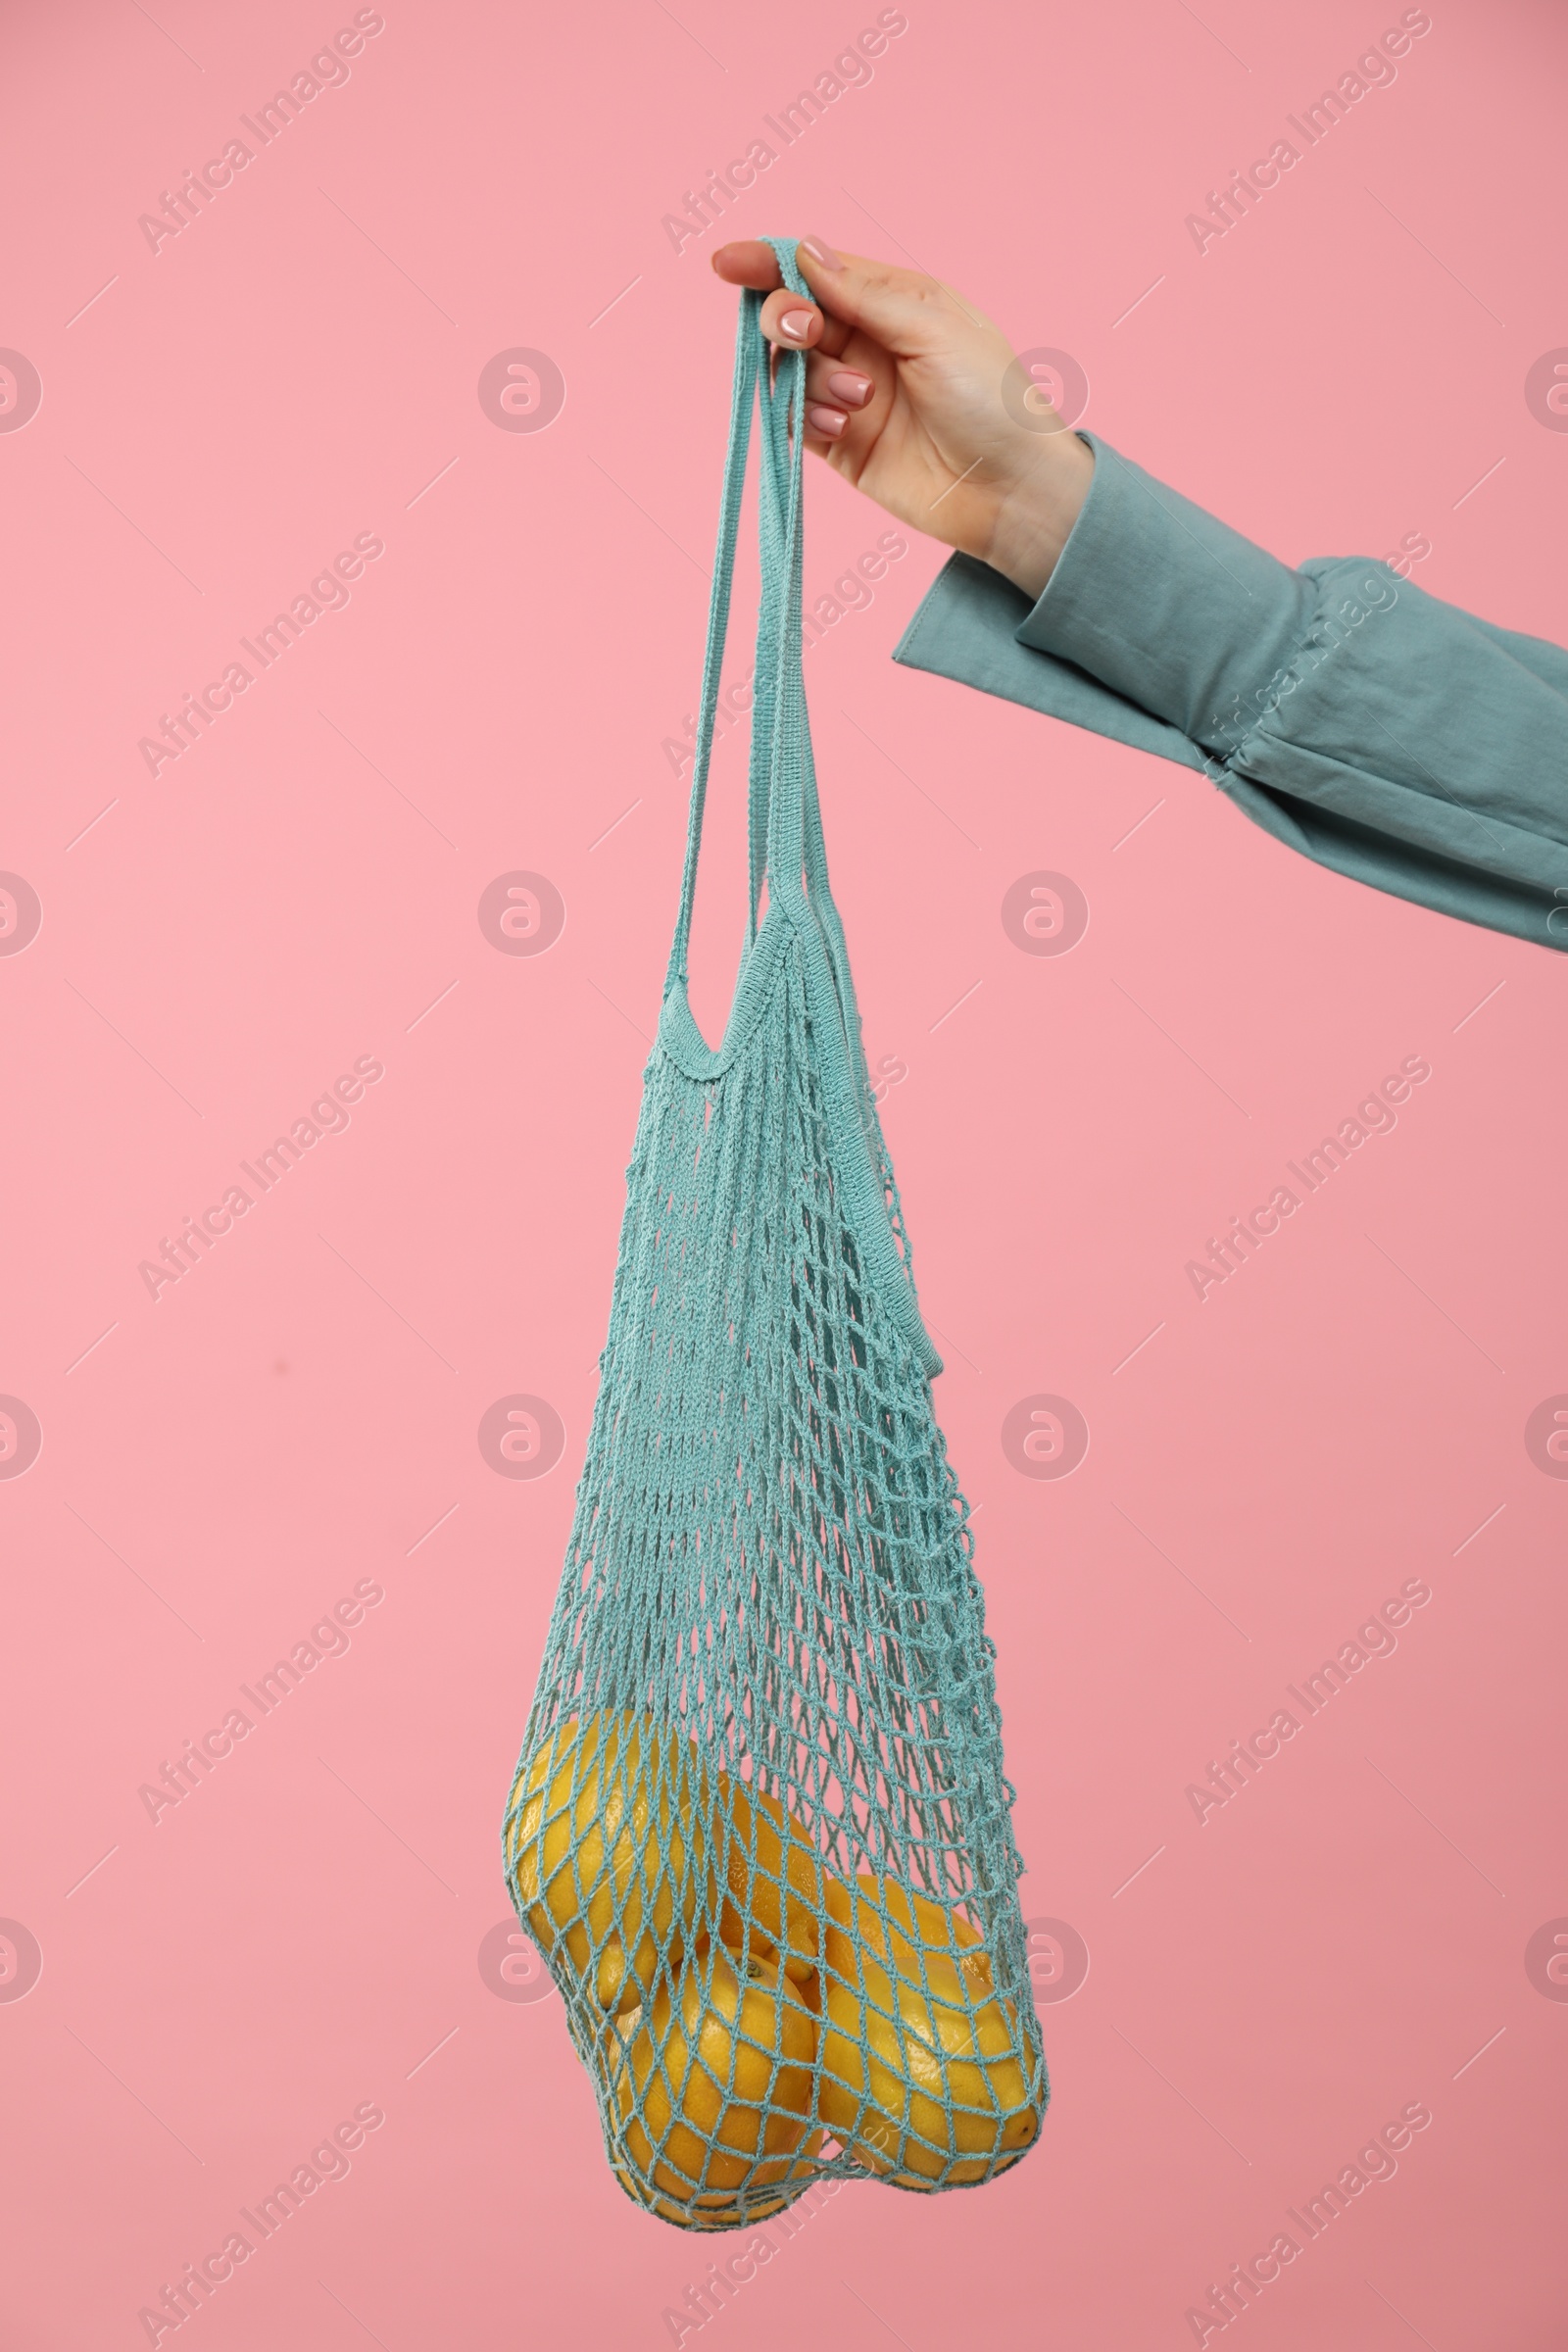
MULTIPOLYGON (((795 245, 769 240, 806 292, 795 245)), ((1046 2070, 969 1505, 827 887, 802 682, 806 355, 741 299, 679 917, 503 1858, 625 2192, 731 2230, 825 2176, 980 2185, 1046 2070), (686 941, 759 412, 750 920, 686 941)))

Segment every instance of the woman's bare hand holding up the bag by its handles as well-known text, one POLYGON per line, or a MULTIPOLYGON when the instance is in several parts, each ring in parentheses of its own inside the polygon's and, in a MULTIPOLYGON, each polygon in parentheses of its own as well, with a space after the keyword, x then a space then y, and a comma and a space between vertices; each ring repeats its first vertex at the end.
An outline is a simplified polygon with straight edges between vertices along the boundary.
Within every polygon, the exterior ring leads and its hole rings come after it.
MULTIPOLYGON (((820 238, 802 238, 797 263, 813 303, 769 292, 762 332, 809 353, 806 447, 889 515, 1037 597, 1088 492, 1088 445, 952 287, 820 238), (1027 423, 1004 400, 1009 369, 1027 423)), ((722 245, 712 266, 729 285, 780 287, 771 245, 722 245)))

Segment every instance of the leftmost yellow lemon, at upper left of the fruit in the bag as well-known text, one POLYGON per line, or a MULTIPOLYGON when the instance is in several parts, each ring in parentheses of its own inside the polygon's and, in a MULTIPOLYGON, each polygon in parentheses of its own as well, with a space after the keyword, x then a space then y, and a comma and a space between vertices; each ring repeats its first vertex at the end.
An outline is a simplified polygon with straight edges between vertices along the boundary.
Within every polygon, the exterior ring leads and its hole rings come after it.
POLYGON ((644 1715, 559 1724, 512 1785, 505 1860, 545 1952, 562 1943, 609 2011, 654 1990, 658 1947, 679 1959, 703 1882, 703 1766, 689 1738, 644 1715))

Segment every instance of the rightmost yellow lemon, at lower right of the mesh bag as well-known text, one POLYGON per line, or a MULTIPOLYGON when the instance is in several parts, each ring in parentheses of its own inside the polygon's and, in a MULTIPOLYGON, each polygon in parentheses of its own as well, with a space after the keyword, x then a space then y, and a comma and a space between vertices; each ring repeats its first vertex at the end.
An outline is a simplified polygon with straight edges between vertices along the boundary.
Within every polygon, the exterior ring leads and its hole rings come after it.
MULTIPOLYGON (((849 2154, 903 2187, 983 2180, 1001 2171, 1039 2131, 1030 2098, 1034 2053, 1023 2044, 1011 2002, 926 1997, 860 1955, 865 1999, 839 1976, 823 1992, 823 2086, 818 2114, 849 2154), (947 2119, 952 2105, 952 2124, 947 2119)), ((936 1992, 936 1985, 933 1985, 936 1992)))

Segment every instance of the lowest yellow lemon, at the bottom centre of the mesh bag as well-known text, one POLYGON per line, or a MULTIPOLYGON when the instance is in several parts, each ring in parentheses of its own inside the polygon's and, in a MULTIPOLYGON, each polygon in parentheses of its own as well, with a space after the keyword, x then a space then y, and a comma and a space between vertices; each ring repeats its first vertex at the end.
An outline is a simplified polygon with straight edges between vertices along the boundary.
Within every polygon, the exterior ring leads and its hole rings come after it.
POLYGON ((755 1964, 743 1976, 710 1945, 614 2032, 616 2171, 642 2204, 672 2204, 668 2218, 722 2227, 743 2183, 750 2204, 757 2190, 802 2178, 820 2145, 820 2131, 811 2133, 816 2018, 778 1969, 755 1964))

